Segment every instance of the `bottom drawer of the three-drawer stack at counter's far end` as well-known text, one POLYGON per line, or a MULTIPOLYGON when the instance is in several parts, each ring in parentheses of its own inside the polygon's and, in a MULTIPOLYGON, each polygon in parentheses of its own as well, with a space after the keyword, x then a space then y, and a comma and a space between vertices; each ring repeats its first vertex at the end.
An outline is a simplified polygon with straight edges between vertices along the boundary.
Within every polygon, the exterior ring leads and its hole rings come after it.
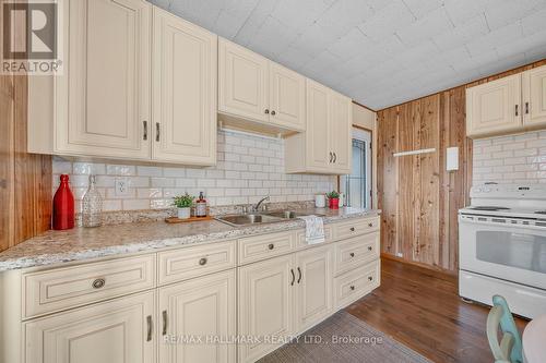
POLYGON ((379 286, 379 259, 334 278, 335 308, 342 308, 379 286))

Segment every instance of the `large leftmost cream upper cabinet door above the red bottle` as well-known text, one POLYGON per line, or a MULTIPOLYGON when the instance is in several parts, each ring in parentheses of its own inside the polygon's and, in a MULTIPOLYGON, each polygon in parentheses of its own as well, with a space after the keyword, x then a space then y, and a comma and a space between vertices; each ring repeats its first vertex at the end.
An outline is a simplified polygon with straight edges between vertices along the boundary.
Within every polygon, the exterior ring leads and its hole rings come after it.
POLYGON ((152 5, 71 0, 64 10, 68 66, 57 82, 57 154, 150 159, 152 5))

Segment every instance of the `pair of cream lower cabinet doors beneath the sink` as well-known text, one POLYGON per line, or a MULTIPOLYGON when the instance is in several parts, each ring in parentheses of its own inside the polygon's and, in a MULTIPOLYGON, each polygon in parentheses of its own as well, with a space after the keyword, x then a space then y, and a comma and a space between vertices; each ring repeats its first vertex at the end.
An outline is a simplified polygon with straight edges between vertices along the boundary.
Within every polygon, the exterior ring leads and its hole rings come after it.
POLYGON ((239 268, 239 362, 254 362, 332 311, 333 246, 239 268))

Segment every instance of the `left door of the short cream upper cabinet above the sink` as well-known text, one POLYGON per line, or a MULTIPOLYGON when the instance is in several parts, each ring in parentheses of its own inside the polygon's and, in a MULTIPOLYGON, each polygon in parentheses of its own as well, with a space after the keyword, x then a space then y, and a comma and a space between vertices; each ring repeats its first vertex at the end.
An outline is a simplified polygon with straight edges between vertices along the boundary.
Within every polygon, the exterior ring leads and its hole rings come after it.
POLYGON ((269 60, 218 39, 218 111, 268 122, 269 60))

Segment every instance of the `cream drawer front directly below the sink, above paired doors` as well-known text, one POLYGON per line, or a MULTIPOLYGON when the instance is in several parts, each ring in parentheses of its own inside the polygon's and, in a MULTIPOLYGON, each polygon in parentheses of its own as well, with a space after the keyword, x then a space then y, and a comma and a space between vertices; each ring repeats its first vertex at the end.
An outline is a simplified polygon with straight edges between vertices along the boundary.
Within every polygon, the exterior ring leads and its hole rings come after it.
POLYGON ((239 265, 280 256, 295 250, 296 232, 263 234, 239 240, 239 265))

